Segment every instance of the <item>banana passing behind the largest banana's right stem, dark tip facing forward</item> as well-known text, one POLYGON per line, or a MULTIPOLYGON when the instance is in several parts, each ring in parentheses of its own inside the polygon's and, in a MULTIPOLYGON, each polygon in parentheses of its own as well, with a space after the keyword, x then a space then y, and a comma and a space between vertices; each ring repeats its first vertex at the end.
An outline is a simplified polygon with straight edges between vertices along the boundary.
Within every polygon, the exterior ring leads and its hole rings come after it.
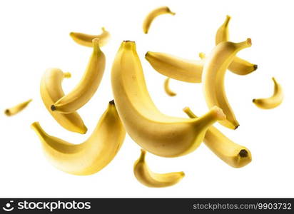
MULTIPOLYGON (((188 107, 183 108, 183 111, 190 118, 198 118, 188 107)), ((214 126, 208 128, 203 142, 216 156, 218 156, 218 158, 232 167, 241 168, 252 161, 251 153, 248 148, 230 141, 229 138, 223 135, 223 133, 218 131, 214 126)))

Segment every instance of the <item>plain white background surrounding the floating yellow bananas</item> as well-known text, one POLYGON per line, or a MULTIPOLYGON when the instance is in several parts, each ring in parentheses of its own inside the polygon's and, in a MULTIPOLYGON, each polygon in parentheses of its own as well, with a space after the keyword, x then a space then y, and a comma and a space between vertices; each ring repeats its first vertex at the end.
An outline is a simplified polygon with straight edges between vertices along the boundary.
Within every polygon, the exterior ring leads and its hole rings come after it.
POLYGON ((0 108, 34 98, 13 117, 0 115, 0 197, 294 197, 293 187, 293 5, 291 1, 1 1, 0 3, 0 108), (156 19, 143 34, 146 14, 157 6, 169 6, 176 16, 156 19), (158 173, 183 170, 186 177, 169 188, 147 188, 133 175, 139 146, 128 136, 114 160, 100 172, 75 176, 61 172, 44 157, 41 143, 30 124, 39 121, 49 134, 72 143, 83 142, 106 110, 111 94, 111 63, 123 40, 136 41, 148 90, 164 113, 186 117, 182 108, 197 114, 208 108, 201 84, 171 80, 176 97, 163 91, 164 76, 144 59, 146 51, 198 58, 214 46, 216 30, 230 21, 232 41, 250 37, 253 46, 241 56, 258 64, 248 76, 227 72, 225 88, 240 127, 236 131, 216 124, 226 136, 250 149, 253 161, 231 168, 202 144, 180 158, 161 158, 148 153, 150 168, 158 173), (98 91, 78 112, 88 127, 86 135, 59 126, 46 111, 39 95, 41 75, 56 67, 72 73, 64 80, 69 92, 81 78, 91 49, 79 46, 70 31, 111 32, 103 46, 106 71, 98 91), (273 110, 261 110, 253 98, 273 93, 275 76, 285 100, 273 110))

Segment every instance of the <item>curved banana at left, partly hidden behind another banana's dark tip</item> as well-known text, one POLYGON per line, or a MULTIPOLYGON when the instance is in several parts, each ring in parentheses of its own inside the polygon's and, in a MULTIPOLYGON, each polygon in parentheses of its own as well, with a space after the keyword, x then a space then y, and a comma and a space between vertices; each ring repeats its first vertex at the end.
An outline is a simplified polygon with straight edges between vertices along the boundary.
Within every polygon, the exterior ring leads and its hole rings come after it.
POLYGON ((64 78, 69 78, 70 73, 64 73, 59 68, 49 68, 41 78, 40 93, 41 98, 51 116, 68 131, 86 133, 87 128, 78 113, 59 113, 51 111, 52 103, 64 96, 61 82, 64 78))

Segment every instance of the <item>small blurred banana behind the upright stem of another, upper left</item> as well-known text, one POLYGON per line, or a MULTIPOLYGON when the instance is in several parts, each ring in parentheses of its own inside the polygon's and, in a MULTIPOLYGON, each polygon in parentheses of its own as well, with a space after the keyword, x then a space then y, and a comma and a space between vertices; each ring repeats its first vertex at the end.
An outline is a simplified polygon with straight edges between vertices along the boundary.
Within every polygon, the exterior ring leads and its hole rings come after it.
POLYGON ((99 39, 99 46, 101 47, 106 45, 110 39, 110 34, 108 31, 106 31, 105 28, 102 28, 102 33, 100 35, 88 35, 88 34, 71 32, 69 36, 71 36, 71 39, 74 39, 74 41, 77 44, 80 44, 82 46, 87 46, 87 47, 93 47, 92 40, 95 38, 99 39))

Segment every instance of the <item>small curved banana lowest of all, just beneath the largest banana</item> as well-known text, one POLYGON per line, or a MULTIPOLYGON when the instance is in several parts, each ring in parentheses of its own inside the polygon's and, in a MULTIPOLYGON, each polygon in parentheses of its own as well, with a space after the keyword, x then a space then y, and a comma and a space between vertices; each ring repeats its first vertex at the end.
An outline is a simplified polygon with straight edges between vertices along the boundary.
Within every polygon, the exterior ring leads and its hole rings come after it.
POLYGON ((133 165, 133 173, 135 174, 137 180, 151 188, 163 188, 171 185, 175 185, 185 176, 183 172, 176 173, 153 173, 146 161, 145 161, 146 151, 141 149, 141 156, 133 165))

